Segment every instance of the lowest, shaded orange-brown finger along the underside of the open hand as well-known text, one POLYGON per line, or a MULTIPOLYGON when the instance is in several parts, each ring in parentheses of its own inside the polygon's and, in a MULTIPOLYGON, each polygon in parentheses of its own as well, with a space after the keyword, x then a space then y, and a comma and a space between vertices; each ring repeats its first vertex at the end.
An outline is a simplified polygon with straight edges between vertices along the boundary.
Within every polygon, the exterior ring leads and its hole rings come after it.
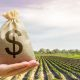
POLYGON ((17 74, 21 74, 21 73, 24 73, 24 72, 26 72, 26 71, 34 68, 35 66, 36 66, 36 63, 35 63, 35 64, 34 64, 34 63, 33 63, 33 64, 31 63, 28 67, 25 67, 25 68, 22 68, 22 69, 17 69, 17 70, 15 70, 15 71, 11 71, 11 72, 9 72, 8 74, 9 74, 10 76, 17 75, 17 74))

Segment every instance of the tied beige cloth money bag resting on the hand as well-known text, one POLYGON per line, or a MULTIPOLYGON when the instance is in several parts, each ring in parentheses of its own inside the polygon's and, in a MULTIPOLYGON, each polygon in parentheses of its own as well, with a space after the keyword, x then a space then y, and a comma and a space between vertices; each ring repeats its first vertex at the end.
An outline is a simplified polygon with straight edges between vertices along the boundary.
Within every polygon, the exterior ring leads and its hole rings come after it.
POLYGON ((16 10, 3 14, 7 21, 0 29, 0 64, 13 64, 35 59, 28 33, 16 10))

